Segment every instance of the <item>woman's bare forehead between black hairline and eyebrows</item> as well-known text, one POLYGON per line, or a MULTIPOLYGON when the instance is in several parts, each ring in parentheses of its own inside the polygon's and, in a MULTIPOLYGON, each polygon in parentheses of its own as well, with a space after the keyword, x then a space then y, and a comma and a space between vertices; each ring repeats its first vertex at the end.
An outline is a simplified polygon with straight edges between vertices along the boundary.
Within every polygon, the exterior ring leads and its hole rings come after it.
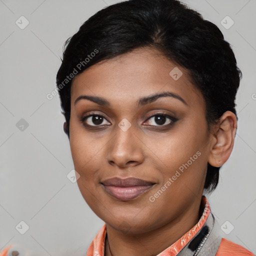
POLYGON ((82 94, 108 101, 133 101, 161 91, 179 94, 188 105, 203 104, 202 94, 192 84, 188 70, 156 49, 138 48, 100 61, 76 75, 72 80, 71 105, 82 94))

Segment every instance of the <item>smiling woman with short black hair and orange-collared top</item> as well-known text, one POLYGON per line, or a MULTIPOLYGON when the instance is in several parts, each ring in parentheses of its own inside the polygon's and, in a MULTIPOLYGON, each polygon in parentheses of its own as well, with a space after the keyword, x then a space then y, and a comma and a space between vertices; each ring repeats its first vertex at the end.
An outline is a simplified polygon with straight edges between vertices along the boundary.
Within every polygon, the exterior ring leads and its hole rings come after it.
POLYGON ((105 222, 87 256, 253 255, 203 195, 233 148, 241 78, 216 25, 178 0, 110 5, 68 38, 56 78, 78 187, 105 222))

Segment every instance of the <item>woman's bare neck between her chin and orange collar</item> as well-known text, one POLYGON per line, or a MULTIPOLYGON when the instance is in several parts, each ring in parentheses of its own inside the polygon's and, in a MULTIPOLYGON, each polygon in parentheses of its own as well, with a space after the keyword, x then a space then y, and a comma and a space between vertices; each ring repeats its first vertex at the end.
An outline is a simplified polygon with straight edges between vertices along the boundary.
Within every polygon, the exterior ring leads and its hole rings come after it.
POLYGON ((165 225, 140 233, 123 233, 106 223, 105 256, 157 255, 189 231, 202 214, 200 201, 165 225))

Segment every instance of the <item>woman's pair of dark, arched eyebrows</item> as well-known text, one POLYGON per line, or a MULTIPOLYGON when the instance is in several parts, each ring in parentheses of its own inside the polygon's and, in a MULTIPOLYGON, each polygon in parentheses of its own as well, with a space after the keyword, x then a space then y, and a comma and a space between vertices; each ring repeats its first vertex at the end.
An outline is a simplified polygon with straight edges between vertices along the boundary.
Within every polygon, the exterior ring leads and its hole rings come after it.
MULTIPOLYGON (((143 106, 143 105, 149 104, 160 97, 172 97, 172 98, 180 100, 182 103, 187 105, 186 101, 182 97, 180 97, 178 94, 176 94, 174 92, 170 92, 170 91, 164 91, 161 93, 154 93, 154 94, 151 94, 148 96, 140 97, 137 100, 137 106, 143 106)), ((106 100, 105 98, 98 97, 98 96, 92 96, 92 95, 80 95, 79 97, 77 97, 75 99, 74 104, 76 104, 77 101, 79 101, 81 99, 88 99, 88 100, 95 102, 102 106, 110 107, 110 105, 111 105, 110 102, 108 100, 106 100)))

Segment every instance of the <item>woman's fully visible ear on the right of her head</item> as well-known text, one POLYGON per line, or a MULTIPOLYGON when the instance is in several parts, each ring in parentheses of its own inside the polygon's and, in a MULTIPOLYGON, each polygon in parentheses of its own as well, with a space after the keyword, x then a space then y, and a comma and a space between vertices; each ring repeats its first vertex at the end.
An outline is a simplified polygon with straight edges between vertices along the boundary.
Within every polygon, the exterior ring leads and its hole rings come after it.
POLYGON ((229 158, 234 145, 234 136, 237 128, 236 116, 226 111, 220 117, 214 128, 213 139, 210 146, 208 163, 220 167, 229 158))

